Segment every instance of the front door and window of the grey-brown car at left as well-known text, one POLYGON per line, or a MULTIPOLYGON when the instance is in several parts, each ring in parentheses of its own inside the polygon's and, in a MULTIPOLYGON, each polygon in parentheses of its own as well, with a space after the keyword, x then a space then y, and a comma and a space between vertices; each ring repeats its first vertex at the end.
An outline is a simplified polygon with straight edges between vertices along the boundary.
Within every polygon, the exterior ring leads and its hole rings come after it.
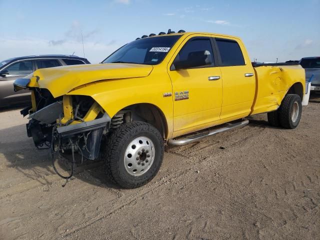
POLYGON ((20 60, 11 63, 1 71, 6 71, 5 76, 0 76, 0 105, 10 105, 30 100, 29 90, 14 92, 13 82, 33 72, 33 60, 20 60))

